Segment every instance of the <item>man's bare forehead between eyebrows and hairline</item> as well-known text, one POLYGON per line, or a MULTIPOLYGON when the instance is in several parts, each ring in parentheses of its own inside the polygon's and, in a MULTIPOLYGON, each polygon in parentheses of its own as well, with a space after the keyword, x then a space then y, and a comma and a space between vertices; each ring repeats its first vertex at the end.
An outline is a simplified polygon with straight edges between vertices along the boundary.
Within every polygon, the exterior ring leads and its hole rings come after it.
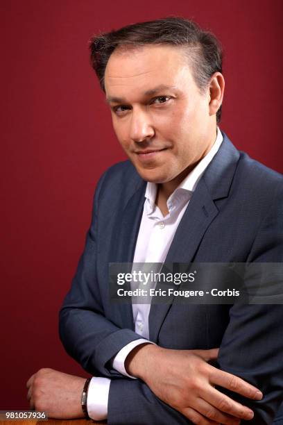
POLYGON ((191 79, 189 58, 183 48, 166 44, 121 47, 108 60, 105 92, 112 97, 162 85, 178 88, 191 79))

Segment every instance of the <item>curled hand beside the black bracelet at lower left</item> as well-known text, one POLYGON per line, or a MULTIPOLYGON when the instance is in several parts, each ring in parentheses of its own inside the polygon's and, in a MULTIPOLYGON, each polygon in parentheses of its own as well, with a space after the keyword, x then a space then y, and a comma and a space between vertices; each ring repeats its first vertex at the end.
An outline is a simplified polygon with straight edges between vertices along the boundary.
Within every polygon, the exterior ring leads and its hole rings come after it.
POLYGON ((56 419, 84 417, 80 398, 85 378, 58 372, 53 369, 40 369, 28 379, 27 399, 31 409, 43 410, 56 419))

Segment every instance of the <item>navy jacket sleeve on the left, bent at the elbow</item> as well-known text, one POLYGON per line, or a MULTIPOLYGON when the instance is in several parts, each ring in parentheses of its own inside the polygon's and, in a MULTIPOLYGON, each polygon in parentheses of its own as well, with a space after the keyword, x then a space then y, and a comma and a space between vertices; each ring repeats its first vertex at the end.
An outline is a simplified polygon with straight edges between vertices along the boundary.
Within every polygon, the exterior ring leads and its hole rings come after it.
POLYGON ((96 239, 99 197, 105 174, 94 196, 92 223, 87 233, 85 249, 59 317, 59 333, 67 353, 90 374, 112 378, 121 376, 109 366, 117 352, 140 338, 130 329, 121 329, 107 319, 96 285, 96 239), (108 365, 107 365, 108 363, 108 365))

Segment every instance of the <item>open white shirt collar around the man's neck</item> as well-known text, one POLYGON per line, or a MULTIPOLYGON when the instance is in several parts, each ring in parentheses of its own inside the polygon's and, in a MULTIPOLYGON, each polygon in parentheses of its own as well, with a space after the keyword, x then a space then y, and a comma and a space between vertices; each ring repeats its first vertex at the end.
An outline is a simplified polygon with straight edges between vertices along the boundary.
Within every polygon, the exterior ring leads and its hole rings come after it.
MULTIPOLYGON (((198 163, 198 165, 194 167, 194 169, 187 175, 187 177, 182 181, 182 183, 180 183, 178 188, 176 188, 174 192, 171 194, 171 196, 169 197, 167 201, 167 206, 169 207, 169 210, 172 208, 173 203, 179 203, 185 198, 186 198, 186 201, 189 200, 191 193, 194 192, 194 190, 196 190, 196 185, 198 184, 198 181, 200 181, 201 176, 203 176, 205 169, 207 168, 212 158, 214 157, 214 155, 220 148, 222 142, 223 142, 223 135, 221 134, 221 131, 217 127, 216 140, 212 148, 198 163)), ((146 185, 146 193, 144 194, 144 196, 146 197, 148 201, 147 202, 148 214, 151 214, 155 208, 156 193, 157 193, 157 184, 152 183, 151 181, 148 181, 146 185)))

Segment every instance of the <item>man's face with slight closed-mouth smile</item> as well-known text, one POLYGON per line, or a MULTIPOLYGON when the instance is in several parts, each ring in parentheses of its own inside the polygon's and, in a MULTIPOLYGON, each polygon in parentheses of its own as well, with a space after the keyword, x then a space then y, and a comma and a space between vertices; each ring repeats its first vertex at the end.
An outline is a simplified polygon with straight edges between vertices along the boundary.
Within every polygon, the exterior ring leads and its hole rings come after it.
POLYGON ((182 181, 216 138, 205 94, 181 48, 119 49, 105 69, 105 92, 124 151, 146 181, 182 181))

